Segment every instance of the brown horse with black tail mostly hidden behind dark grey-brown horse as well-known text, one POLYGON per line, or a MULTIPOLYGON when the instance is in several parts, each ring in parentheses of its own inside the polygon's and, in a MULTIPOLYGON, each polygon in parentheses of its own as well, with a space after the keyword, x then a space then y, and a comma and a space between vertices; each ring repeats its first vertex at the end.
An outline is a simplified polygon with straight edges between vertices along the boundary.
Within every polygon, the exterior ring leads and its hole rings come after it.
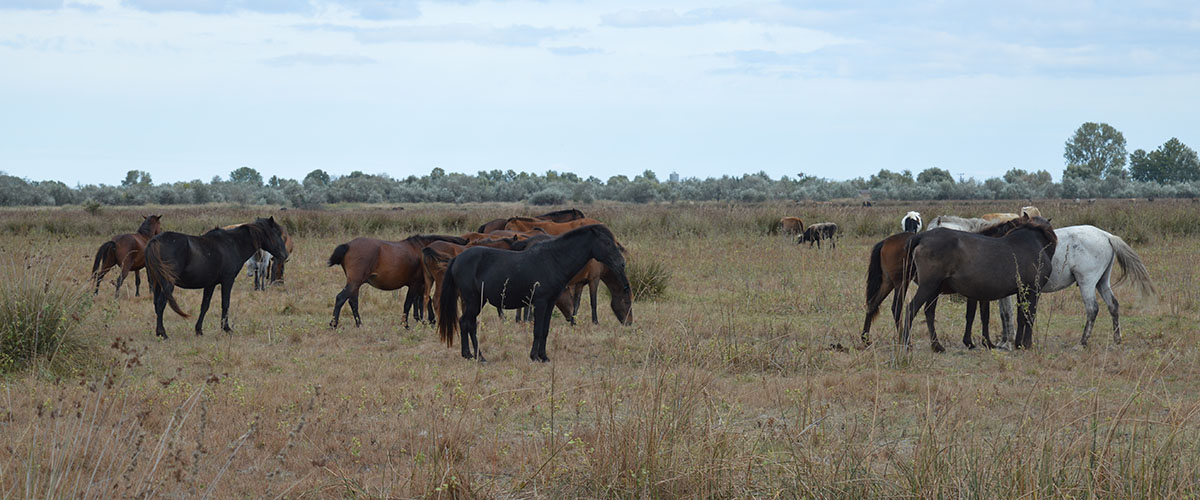
MULTIPOLYGON (((1000 224, 994 224, 983 230, 979 234, 985 236, 1003 236, 1008 230, 1016 227, 1016 221, 1002 222, 1000 224)), ((866 319, 863 320, 863 333, 862 339, 864 344, 870 344, 870 332, 871 323, 875 321, 875 317, 880 312, 880 305, 888 297, 893 290, 900 288, 900 281, 904 279, 904 265, 905 265, 905 245, 913 236, 914 233, 896 233, 875 243, 871 248, 870 259, 868 260, 866 271, 866 319)), ((896 325, 900 327, 900 313, 902 305, 902 296, 899 293, 892 296, 892 318, 896 325)), ((962 333, 964 344, 967 348, 974 349, 974 344, 971 342, 971 325, 974 320, 976 301, 967 300, 967 325, 962 333)), ((980 313, 983 320, 983 341, 984 345, 989 349, 992 348, 991 338, 988 333, 988 321, 989 321, 989 309, 988 305, 980 313)), ((1004 317, 1007 318, 1007 317, 1004 317)), ((1007 324, 1004 324, 1007 326, 1007 324)), ((1006 333, 1008 331, 1006 330, 1006 333)))

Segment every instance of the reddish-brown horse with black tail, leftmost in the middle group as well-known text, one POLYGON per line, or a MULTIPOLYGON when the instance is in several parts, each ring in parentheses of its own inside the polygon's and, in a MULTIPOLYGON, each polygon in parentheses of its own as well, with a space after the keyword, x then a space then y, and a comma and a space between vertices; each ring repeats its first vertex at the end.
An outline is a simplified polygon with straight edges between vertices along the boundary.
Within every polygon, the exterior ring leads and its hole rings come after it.
POLYGON ((434 241, 467 245, 467 240, 458 236, 419 234, 402 241, 355 237, 334 248, 328 264, 329 266, 342 266, 342 271, 346 273, 346 287, 337 294, 334 303, 334 319, 329 321, 329 326, 337 327, 342 306, 347 301, 350 302, 350 312, 354 314, 354 326, 362 326, 362 318, 359 315, 359 288, 362 287, 362 283, 379 290, 398 290, 408 287, 401 321, 404 329, 408 329, 408 309, 413 305, 416 306, 413 314, 420 320, 421 309, 425 307, 425 301, 421 300, 425 293, 421 248, 434 241))

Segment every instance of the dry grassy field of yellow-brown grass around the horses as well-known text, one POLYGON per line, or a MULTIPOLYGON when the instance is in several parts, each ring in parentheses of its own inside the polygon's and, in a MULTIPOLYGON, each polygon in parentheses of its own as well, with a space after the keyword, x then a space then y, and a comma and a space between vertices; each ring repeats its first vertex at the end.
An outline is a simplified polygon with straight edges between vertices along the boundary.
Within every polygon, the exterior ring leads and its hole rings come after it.
MULTIPOLYGON (((1118 287, 1124 343, 1102 307, 1079 348, 1076 288, 1043 296, 1030 351, 967 351, 964 305, 938 308, 948 353, 858 342, 870 246, 907 210, 926 219, 1025 203, 580 206, 635 263, 672 278, 620 326, 530 327, 480 315, 485 365, 404 330, 402 295, 364 288, 364 326, 330 330, 344 284, 326 267, 354 236, 457 234, 518 205, 275 211, 296 237, 287 283, 233 291, 206 335, 166 319, 110 275, 76 345, 0 387, 4 498, 1195 498, 1200 495, 1200 207, 1040 201, 1141 255, 1158 296, 1118 287), (842 227, 836 249, 776 234, 780 216, 842 227)), ((200 233, 269 211, 238 207, 0 211, 6 281, 49 267, 85 289, 96 248, 140 213, 200 233), (41 260, 38 260, 41 259, 41 260), (40 269, 40 267, 38 267, 40 269), (36 269, 35 269, 36 271, 36 269)), ((37 275, 42 276, 42 275, 37 275)), ((85 294, 86 300, 92 300, 85 294)), ((176 291, 196 313, 199 291, 176 291)), ((584 299, 586 301, 586 299, 584 299)), ((169 311, 168 311, 169 314, 169 311)), ((994 314, 995 317, 995 314, 994 314)), ((992 331, 998 330, 992 319, 992 331)), ((978 336, 978 330, 976 332, 978 336)))

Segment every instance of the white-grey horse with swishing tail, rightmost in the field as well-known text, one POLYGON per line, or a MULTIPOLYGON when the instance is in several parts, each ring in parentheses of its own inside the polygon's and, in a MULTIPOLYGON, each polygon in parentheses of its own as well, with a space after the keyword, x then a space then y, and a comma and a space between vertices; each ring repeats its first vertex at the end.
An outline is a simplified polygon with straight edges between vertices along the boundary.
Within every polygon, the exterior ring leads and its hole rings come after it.
MULTIPOLYGON (((1154 294, 1154 285, 1151 283, 1146 265, 1124 240, 1094 225, 1058 228, 1054 234, 1058 237, 1058 249, 1055 251, 1050 264, 1050 279, 1042 285, 1042 293, 1058 291, 1072 284, 1079 285, 1087 318, 1084 323, 1084 336, 1079 339, 1080 345, 1087 345, 1087 337, 1091 336, 1092 326, 1096 324, 1096 314, 1100 309, 1096 294, 1099 293, 1109 307, 1109 315, 1112 317, 1112 343, 1120 344, 1121 306, 1112 294, 1112 285, 1130 278, 1142 295, 1154 294), (1110 283, 1114 261, 1121 265, 1122 276, 1116 283, 1110 283)), ((1012 315, 1012 299, 1001 299, 1000 308, 1007 309, 1012 315)), ((1001 345, 1007 347, 1009 343, 1010 339, 1006 335, 1001 345)))

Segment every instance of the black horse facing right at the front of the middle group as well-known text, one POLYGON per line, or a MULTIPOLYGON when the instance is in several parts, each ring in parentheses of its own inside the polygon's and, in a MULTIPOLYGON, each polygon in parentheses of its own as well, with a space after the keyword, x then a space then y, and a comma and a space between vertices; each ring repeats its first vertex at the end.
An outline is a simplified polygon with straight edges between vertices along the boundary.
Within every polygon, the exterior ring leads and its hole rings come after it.
POLYGON ((479 361, 485 361, 475 337, 475 318, 479 317, 484 301, 505 309, 533 306, 533 348, 529 349, 529 359, 550 361, 546 356, 550 314, 566 283, 589 259, 596 259, 608 267, 620 283, 620 289, 629 291, 622 248, 612 231, 602 224, 570 230, 524 252, 487 247, 466 249, 446 267, 439 291, 439 337, 448 347, 454 345, 455 330, 460 330, 462 357, 469 360, 478 356, 479 361), (462 319, 457 307, 460 297, 462 319))

